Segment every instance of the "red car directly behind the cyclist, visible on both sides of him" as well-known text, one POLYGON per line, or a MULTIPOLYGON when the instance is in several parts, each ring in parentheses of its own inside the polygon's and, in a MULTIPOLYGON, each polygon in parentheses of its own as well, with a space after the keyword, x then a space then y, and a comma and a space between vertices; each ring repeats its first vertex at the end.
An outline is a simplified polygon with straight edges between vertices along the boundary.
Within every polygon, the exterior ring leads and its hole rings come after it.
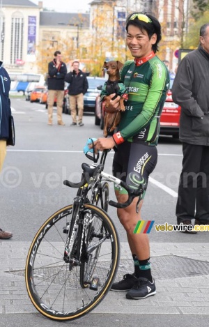
MULTIPOLYGON (((172 86, 175 75, 171 74, 170 88, 167 92, 167 99, 164 102, 162 114, 160 117, 160 135, 172 135, 178 138, 179 121, 180 121, 180 106, 176 105, 172 99, 172 86)), ((95 125, 104 128, 104 111, 100 102, 100 96, 95 100, 95 125)))

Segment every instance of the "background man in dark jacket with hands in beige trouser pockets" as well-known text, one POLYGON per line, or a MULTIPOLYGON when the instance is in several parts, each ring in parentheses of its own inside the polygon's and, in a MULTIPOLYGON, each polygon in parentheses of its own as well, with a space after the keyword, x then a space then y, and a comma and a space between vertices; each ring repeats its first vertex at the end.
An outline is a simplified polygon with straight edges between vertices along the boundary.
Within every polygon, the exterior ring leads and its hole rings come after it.
POLYGON ((78 125, 84 126, 82 122, 84 114, 84 94, 88 90, 88 80, 86 74, 79 69, 79 62, 72 63, 72 72, 65 76, 65 82, 70 83, 68 86, 68 94, 70 98, 70 113, 72 116, 71 126, 77 125, 77 111, 78 109, 78 125))

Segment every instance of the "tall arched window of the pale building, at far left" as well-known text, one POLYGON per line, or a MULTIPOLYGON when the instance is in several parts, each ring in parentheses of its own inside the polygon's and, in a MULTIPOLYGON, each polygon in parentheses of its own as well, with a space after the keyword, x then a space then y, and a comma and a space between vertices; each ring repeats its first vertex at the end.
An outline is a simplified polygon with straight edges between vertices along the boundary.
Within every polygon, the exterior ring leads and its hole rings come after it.
POLYGON ((21 13, 14 13, 11 26, 10 63, 22 59, 24 18, 21 13))

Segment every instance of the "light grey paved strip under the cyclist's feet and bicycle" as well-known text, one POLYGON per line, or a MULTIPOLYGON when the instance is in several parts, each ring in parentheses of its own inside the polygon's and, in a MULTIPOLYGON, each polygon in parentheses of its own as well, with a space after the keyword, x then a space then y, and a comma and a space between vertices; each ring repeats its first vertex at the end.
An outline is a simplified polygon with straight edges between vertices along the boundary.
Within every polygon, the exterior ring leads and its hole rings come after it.
MULTIPOLYGON (((29 242, 0 241, 0 314, 37 312, 26 293, 24 265, 29 242)), ((209 247, 206 243, 150 243, 157 294, 131 301, 109 291, 92 313, 208 314, 209 247)), ((117 279, 132 273, 127 243, 121 243, 117 279)))

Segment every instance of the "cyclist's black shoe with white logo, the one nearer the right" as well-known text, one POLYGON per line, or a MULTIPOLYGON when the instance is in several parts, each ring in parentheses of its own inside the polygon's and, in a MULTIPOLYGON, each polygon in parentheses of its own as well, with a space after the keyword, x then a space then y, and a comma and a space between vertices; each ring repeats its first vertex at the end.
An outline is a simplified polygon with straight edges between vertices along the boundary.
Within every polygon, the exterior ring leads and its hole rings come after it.
POLYGON ((139 277, 130 291, 127 292, 126 298, 139 300, 140 298, 148 298, 156 294, 155 280, 150 282, 144 277, 139 277))

